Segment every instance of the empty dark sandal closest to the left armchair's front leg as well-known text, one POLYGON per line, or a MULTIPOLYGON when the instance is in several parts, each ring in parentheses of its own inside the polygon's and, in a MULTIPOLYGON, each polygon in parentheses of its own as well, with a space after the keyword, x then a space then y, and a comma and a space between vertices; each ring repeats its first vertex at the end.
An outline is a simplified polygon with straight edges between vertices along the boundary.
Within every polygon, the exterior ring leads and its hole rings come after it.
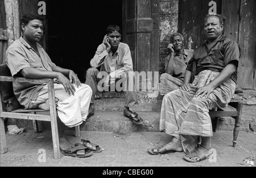
POLYGON ((77 143, 71 149, 68 149, 66 151, 62 150, 61 153, 65 156, 72 156, 77 158, 86 158, 86 157, 92 156, 93 154, 93 152, 90 151, 90 149, 88 149, 82 144, 77 144, 77 143))

